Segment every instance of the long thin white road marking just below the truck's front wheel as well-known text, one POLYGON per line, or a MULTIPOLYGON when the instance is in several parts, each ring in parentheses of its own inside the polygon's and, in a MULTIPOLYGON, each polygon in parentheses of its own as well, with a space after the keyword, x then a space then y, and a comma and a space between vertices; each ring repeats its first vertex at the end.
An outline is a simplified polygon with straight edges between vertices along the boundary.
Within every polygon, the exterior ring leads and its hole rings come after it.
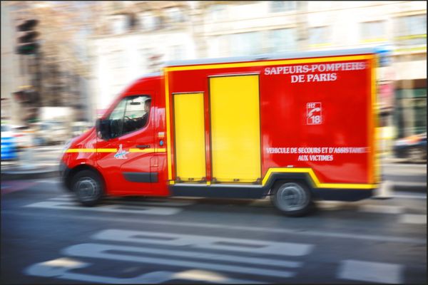
POLYGON ((34 204, 28 204, 24 207, 33 208, 46 208, 46 209, 71 209, 77 211, 88 211, 88 212, 113 212, 113 213, 128 213, 128 214, 157 214, 157 215, 170 215, 178 214, 183 209, 173 207, 138 207, 138 209, 121 209, 120 204, 101 205, 98 207, 81 207, 76 206, 73 202, 61 202, 61 201, 46 201, 37 202, 34 204))

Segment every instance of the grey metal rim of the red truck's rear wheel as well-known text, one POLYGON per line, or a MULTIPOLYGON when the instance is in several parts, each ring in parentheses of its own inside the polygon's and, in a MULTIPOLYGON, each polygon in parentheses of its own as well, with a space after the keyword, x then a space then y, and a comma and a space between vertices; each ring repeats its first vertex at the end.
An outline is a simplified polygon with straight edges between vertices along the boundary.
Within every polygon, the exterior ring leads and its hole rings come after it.
POLYGON ((297 183, 286 183, 277 190, 278 207, 285 211, 303 209, 309 203, 307 192, 297 183))

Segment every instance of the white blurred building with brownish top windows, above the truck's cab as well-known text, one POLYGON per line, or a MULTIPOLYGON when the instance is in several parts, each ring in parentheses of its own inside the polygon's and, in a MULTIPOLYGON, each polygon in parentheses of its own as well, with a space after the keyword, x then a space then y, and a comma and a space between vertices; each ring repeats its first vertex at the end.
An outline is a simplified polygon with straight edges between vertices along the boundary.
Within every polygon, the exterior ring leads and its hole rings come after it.
POLYGON ((101 2, 91 40, 97 113, 131 81, 165 61, 195 58, 190 4, 182 1, 101 2))

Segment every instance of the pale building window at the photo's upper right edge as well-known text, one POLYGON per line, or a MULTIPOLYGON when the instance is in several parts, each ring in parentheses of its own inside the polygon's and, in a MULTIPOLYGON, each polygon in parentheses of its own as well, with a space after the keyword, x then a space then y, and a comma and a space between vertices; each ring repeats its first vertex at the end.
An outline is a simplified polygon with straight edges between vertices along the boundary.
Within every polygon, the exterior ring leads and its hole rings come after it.
POLYGON ((397 18, 396 40, 406 45, 427 45, 427 14, 397 18))

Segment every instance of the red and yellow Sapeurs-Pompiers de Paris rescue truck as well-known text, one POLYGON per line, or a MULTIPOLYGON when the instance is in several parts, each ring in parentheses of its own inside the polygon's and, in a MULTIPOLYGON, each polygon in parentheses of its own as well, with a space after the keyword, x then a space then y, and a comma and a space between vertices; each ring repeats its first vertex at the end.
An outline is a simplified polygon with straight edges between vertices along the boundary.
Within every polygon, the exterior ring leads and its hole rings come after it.
POLYGON ((66 145, 61 175, 105 196, 259 199, 299 216, 379 186, 372 49, 170 63, 66 145))

